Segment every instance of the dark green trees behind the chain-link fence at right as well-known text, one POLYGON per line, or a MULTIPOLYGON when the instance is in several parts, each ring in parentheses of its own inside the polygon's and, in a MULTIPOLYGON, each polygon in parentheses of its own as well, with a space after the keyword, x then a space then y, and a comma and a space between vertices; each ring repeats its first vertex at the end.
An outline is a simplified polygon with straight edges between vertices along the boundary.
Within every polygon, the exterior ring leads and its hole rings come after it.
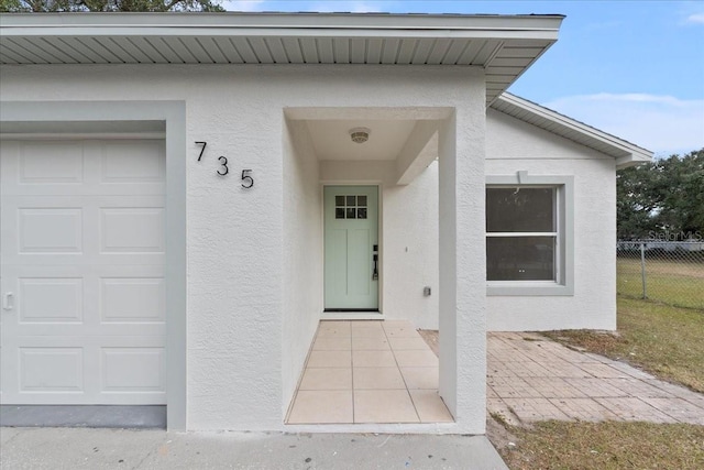
POLYGON ((618 172, 618 239, 704 237, 704 149, 618 172))

